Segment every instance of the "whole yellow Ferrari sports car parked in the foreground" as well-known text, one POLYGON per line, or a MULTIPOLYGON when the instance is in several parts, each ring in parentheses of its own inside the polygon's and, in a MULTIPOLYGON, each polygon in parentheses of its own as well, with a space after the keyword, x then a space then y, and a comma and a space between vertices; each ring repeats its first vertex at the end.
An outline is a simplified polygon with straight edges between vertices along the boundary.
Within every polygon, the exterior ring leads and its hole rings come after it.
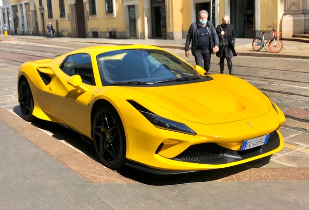
POLYGON ((62 123, 93 140, 103 165, 154 174, 230 167, 283 147, 282 111, 232 75, 205 75, 161 48, 89 47, 26 62, 23 119, 62 123))

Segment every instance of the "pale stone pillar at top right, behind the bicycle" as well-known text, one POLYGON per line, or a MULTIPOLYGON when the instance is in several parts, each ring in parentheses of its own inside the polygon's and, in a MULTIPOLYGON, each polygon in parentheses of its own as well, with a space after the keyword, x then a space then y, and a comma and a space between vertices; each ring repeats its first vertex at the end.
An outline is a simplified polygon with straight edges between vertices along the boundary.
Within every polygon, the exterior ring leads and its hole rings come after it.
POLYGON ((285 0, 285 12, 282 17, 282 37, 304 34, 305 16, 303 0, 285 0))

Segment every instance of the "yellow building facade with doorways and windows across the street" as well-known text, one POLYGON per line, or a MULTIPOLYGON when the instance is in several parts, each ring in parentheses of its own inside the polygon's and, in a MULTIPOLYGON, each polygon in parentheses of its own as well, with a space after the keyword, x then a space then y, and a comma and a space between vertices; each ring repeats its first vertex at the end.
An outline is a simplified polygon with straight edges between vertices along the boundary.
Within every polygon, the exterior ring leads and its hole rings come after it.
MULTIPOLYGON (((253 38, 273 26, 283 37, 309 31, 309 0, 3 0, 2 22, 12 34, 181 39, 205 9, 217 26, 224 15, 237 37, 253 38)), ((2 25, 3 25, 2 24, 2 25)))

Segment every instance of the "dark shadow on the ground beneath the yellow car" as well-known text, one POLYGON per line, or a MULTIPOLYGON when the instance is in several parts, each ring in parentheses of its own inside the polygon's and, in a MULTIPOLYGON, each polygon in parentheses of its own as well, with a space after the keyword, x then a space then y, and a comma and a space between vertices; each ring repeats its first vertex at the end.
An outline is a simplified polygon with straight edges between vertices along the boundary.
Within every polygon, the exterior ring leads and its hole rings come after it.
MULTIPOLYGON (((21 116, 19 106, 16 106, 13 111, 21 116)), ((70 144, 78 151, 84 153, 86 156, 92 158, 93 160, 101 163, 97 153, 95 151, 94 145, 86 142, 81 138, 81 135, 75 131, 64 127, 57 123, 51 123, 43 120, 35 120, 31 123, 35 127, 45 130, 46 133, 51 135, 53 138, 60 140, 64 143, 70 144)), ((258 160, 251 161, 249 163, 240 164, 238 166, 223 168, 223 169, 213 169, 200 172, 192 172, 187 174, 179 175, 154 175, 147 172, 139 171, 137 169, 124 166, 121 169, 116 170, 115 172, 132 179, 134 181, 154 186, 165 186, 165 185, 175 185, 175 184, 184 184, 192 182, 207 182, 207 181, 216 181, 230 175, 235 175, 240 172, 246 171, 250 168, 259 168, 265 166, 270 161, 269 157, 264 157, 258 160)))

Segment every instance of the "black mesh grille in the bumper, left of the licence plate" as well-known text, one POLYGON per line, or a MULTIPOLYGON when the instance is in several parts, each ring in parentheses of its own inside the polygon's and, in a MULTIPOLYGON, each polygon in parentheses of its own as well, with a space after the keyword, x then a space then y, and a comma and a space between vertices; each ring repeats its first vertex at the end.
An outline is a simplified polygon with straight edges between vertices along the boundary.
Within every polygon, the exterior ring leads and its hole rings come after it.
POLYGON ((222 156, 223 152, 218 144, 203 143, 190 146, 188 149, 186 149, 175 158, 186 161, 200 161, 206 159, 220 158, 222 156))

